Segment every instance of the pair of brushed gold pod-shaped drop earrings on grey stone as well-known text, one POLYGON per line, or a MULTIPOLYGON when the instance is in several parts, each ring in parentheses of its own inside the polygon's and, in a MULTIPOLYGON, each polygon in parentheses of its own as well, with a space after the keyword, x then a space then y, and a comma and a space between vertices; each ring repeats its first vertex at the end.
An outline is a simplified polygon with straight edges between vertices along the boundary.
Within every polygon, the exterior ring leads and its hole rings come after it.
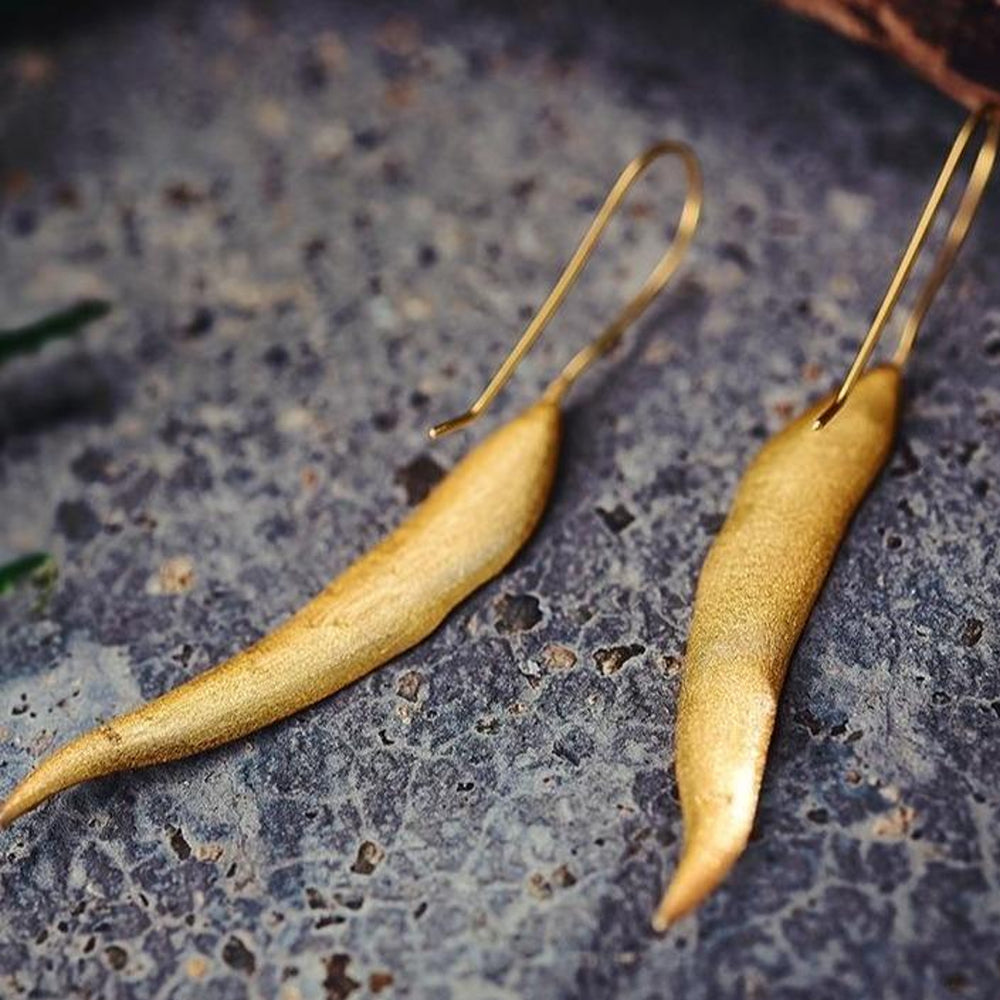
MULTIPOLYGON (((789 659, 855 510, 889 456, 901 370, 954 263, 1000 146, 1000 113, 971 115, 847 377, 771 438, 745 473, 698 582, 681 682, 676 756, 685 824, 680 865, 653 919, 665 929, 725 877, 746 846, 789 659), (977 127, 986 136, 943 247, 892 362, 867 370, 977 127)), ((430 635, 494 577, 537 526, 555 478, 561 405, 576 380, 621 340, 680 265, 703 183, 684 143, 629 163, 563 274, 471 408, 432 437, 474 421, 503 389, 586 265, 636 179, 681 160, 687 193, 677 231, 639 292, 552 381, 538 402, 469 452, 392 534, 249 649, 45 759, 0 808, 6 825, 65 788, 219 746, 340 690, 430 635)))

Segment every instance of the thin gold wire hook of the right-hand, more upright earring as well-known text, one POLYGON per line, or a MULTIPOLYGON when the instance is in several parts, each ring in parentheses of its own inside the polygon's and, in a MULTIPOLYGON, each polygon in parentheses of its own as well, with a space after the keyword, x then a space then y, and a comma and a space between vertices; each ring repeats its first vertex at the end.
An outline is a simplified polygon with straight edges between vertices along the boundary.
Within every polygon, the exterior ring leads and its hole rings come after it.
POLYGON ((944 201, 944 197, 948 193, 952 181, 955 179, 955 173, 962 161, 962 157, 965 155, 969 141, 983 121, 987 121, 986 137, 983 139, 983 144, 976 155, 976 161, 972 166, 972 172, 969 174, 969 180, 966 183, 965 190, 962 192, 962 198, 959 201, 951 225, 948 227, 948 234, 945 237, 944 245, 938 251, 931 273, 917 296, 916 304, 907 317, 903 332, 899 337, 896 353, 893 355, 892 363, 897 367, 902 367, 909 357, 910 351, 913 349, 913 344, 917 339, 920 324, 923 322, 927 310, 934 301, 934 296, 937 295, 938 289, 955 263, 955 258, 958 256, 958 252, 965 242, 965 237, 969 233, 969 227, 972 225, 972 220, 976 216, 979 203, 982 201, 983 192, 986 190, 990 174, 993 172, 997 150, 1000 147, 1000 108, 996 105, 984 105, 978 111, 969 115, 955 137, 955 141, 952 143, 948 156, 945 159, 944 166, 941 168, 941 173, 938 174, 938 178, 934 183, 931 196, 924 206, 916 229, 913 230, 913 235, 910 237, 910 242, 903 253, 899 266, 896 268, 896 273, 892 276, 892 281, 889 283, 885 297, 882 299, 882 303, 875 313, 872 325, 869 327, 865 339, 861 342, 857 356, 851 363, 847 376, 833 402, 813 422, 813 430, 825 427, 837 415, 857 384, 858 379, 861 378, 872 352, 875 350, 875 345, 882 336, 882 332, 892 316, 893 310, 896 308, 899 297, 910 279, 917 258, 920 256, 924 243, 927 241, 931 226, 934 224, 935 218, 937 218, 941 203, 944 201))

